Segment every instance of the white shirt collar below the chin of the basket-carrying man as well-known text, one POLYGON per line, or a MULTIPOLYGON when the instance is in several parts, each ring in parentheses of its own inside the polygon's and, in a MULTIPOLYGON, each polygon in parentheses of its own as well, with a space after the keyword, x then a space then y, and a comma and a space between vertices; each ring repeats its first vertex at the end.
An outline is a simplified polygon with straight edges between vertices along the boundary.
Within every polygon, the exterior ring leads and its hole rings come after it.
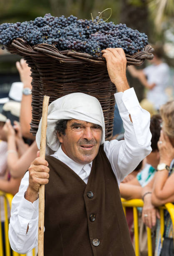
POLYGON ((92 167, 92 161, 89 164, 79 164, 79 163, 75 162, 74 160, 72 160, 69 156, 67 156, 63 152, 61 146, 58 148, 58 150, 55 152, 55 154, 53 156, 56 157, 57 159, 59 159, 60 161, 62 161, 67 166, 69 166, 76 174, 80 174, 80 172, 84 166, 89 166, 90 169, 92 167))

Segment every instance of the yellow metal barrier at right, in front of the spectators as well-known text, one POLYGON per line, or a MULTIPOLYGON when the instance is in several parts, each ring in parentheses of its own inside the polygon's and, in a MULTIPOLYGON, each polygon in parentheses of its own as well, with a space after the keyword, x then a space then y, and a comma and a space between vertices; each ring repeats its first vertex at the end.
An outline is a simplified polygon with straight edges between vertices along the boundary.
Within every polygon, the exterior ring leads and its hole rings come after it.
MULTIPOLYGON (((122 206, 124 213, 126 213, 126 207, 133 208, 134 214, 134 239, 135 239, 135 255, 139 256, 139 229, 138 229, 138 214, 137 207, 143 207, 143 201, 141 199, 132 199, 125 200, 122 198, 122 206)), ((167 209, 170 217, 172 219, 172 224, 174 227, 174 205, 172 203, 167 203, 165 206, 159 207, 160 211, 160 233, 163 237, 164 234, 164 209, 167 209)), ((148 256, 152 256, 152 237, 151 237, 151 229, 147 227, 147 247, 148 247, 148 256)))

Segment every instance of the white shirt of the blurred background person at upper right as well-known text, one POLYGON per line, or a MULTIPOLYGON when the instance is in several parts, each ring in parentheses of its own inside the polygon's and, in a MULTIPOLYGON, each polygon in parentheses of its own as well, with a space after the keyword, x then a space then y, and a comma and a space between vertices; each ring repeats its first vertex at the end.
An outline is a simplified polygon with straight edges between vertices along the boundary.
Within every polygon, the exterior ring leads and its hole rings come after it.
POLYGON ((168 100, 165 89, 169 82, 169 66, 166 63, 150 65, 143 69, 143 72, 147 75, 149 84, 155 83, 152 90, 147 92, 147 100, 152 102, 154 108, 158 110, 168 100))

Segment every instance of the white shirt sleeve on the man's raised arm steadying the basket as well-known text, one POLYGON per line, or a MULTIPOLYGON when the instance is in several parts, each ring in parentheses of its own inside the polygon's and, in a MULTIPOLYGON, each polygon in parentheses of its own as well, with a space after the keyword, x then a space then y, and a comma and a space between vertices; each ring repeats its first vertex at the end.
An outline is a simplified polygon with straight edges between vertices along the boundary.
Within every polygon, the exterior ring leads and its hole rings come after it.
POLYGON ((152 151, 152 134, 149 129, 150 114, 139 105, 134 88, 115 93, 114 96, 123 120, 124 141, 105 141, 104 151, 119 185, 152 151))

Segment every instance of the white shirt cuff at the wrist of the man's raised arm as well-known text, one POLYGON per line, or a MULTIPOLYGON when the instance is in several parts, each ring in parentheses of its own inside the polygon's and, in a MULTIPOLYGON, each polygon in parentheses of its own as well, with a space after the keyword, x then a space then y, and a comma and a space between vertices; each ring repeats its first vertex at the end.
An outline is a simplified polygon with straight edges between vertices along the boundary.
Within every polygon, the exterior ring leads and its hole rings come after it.
POLYGON ((129 111, 130 109, 137 106, 140 107, 137 95, 133 87, 125 90, 124 92, 117 92, 114 94, 114 96, 117 102, 119 113, 129 111))

